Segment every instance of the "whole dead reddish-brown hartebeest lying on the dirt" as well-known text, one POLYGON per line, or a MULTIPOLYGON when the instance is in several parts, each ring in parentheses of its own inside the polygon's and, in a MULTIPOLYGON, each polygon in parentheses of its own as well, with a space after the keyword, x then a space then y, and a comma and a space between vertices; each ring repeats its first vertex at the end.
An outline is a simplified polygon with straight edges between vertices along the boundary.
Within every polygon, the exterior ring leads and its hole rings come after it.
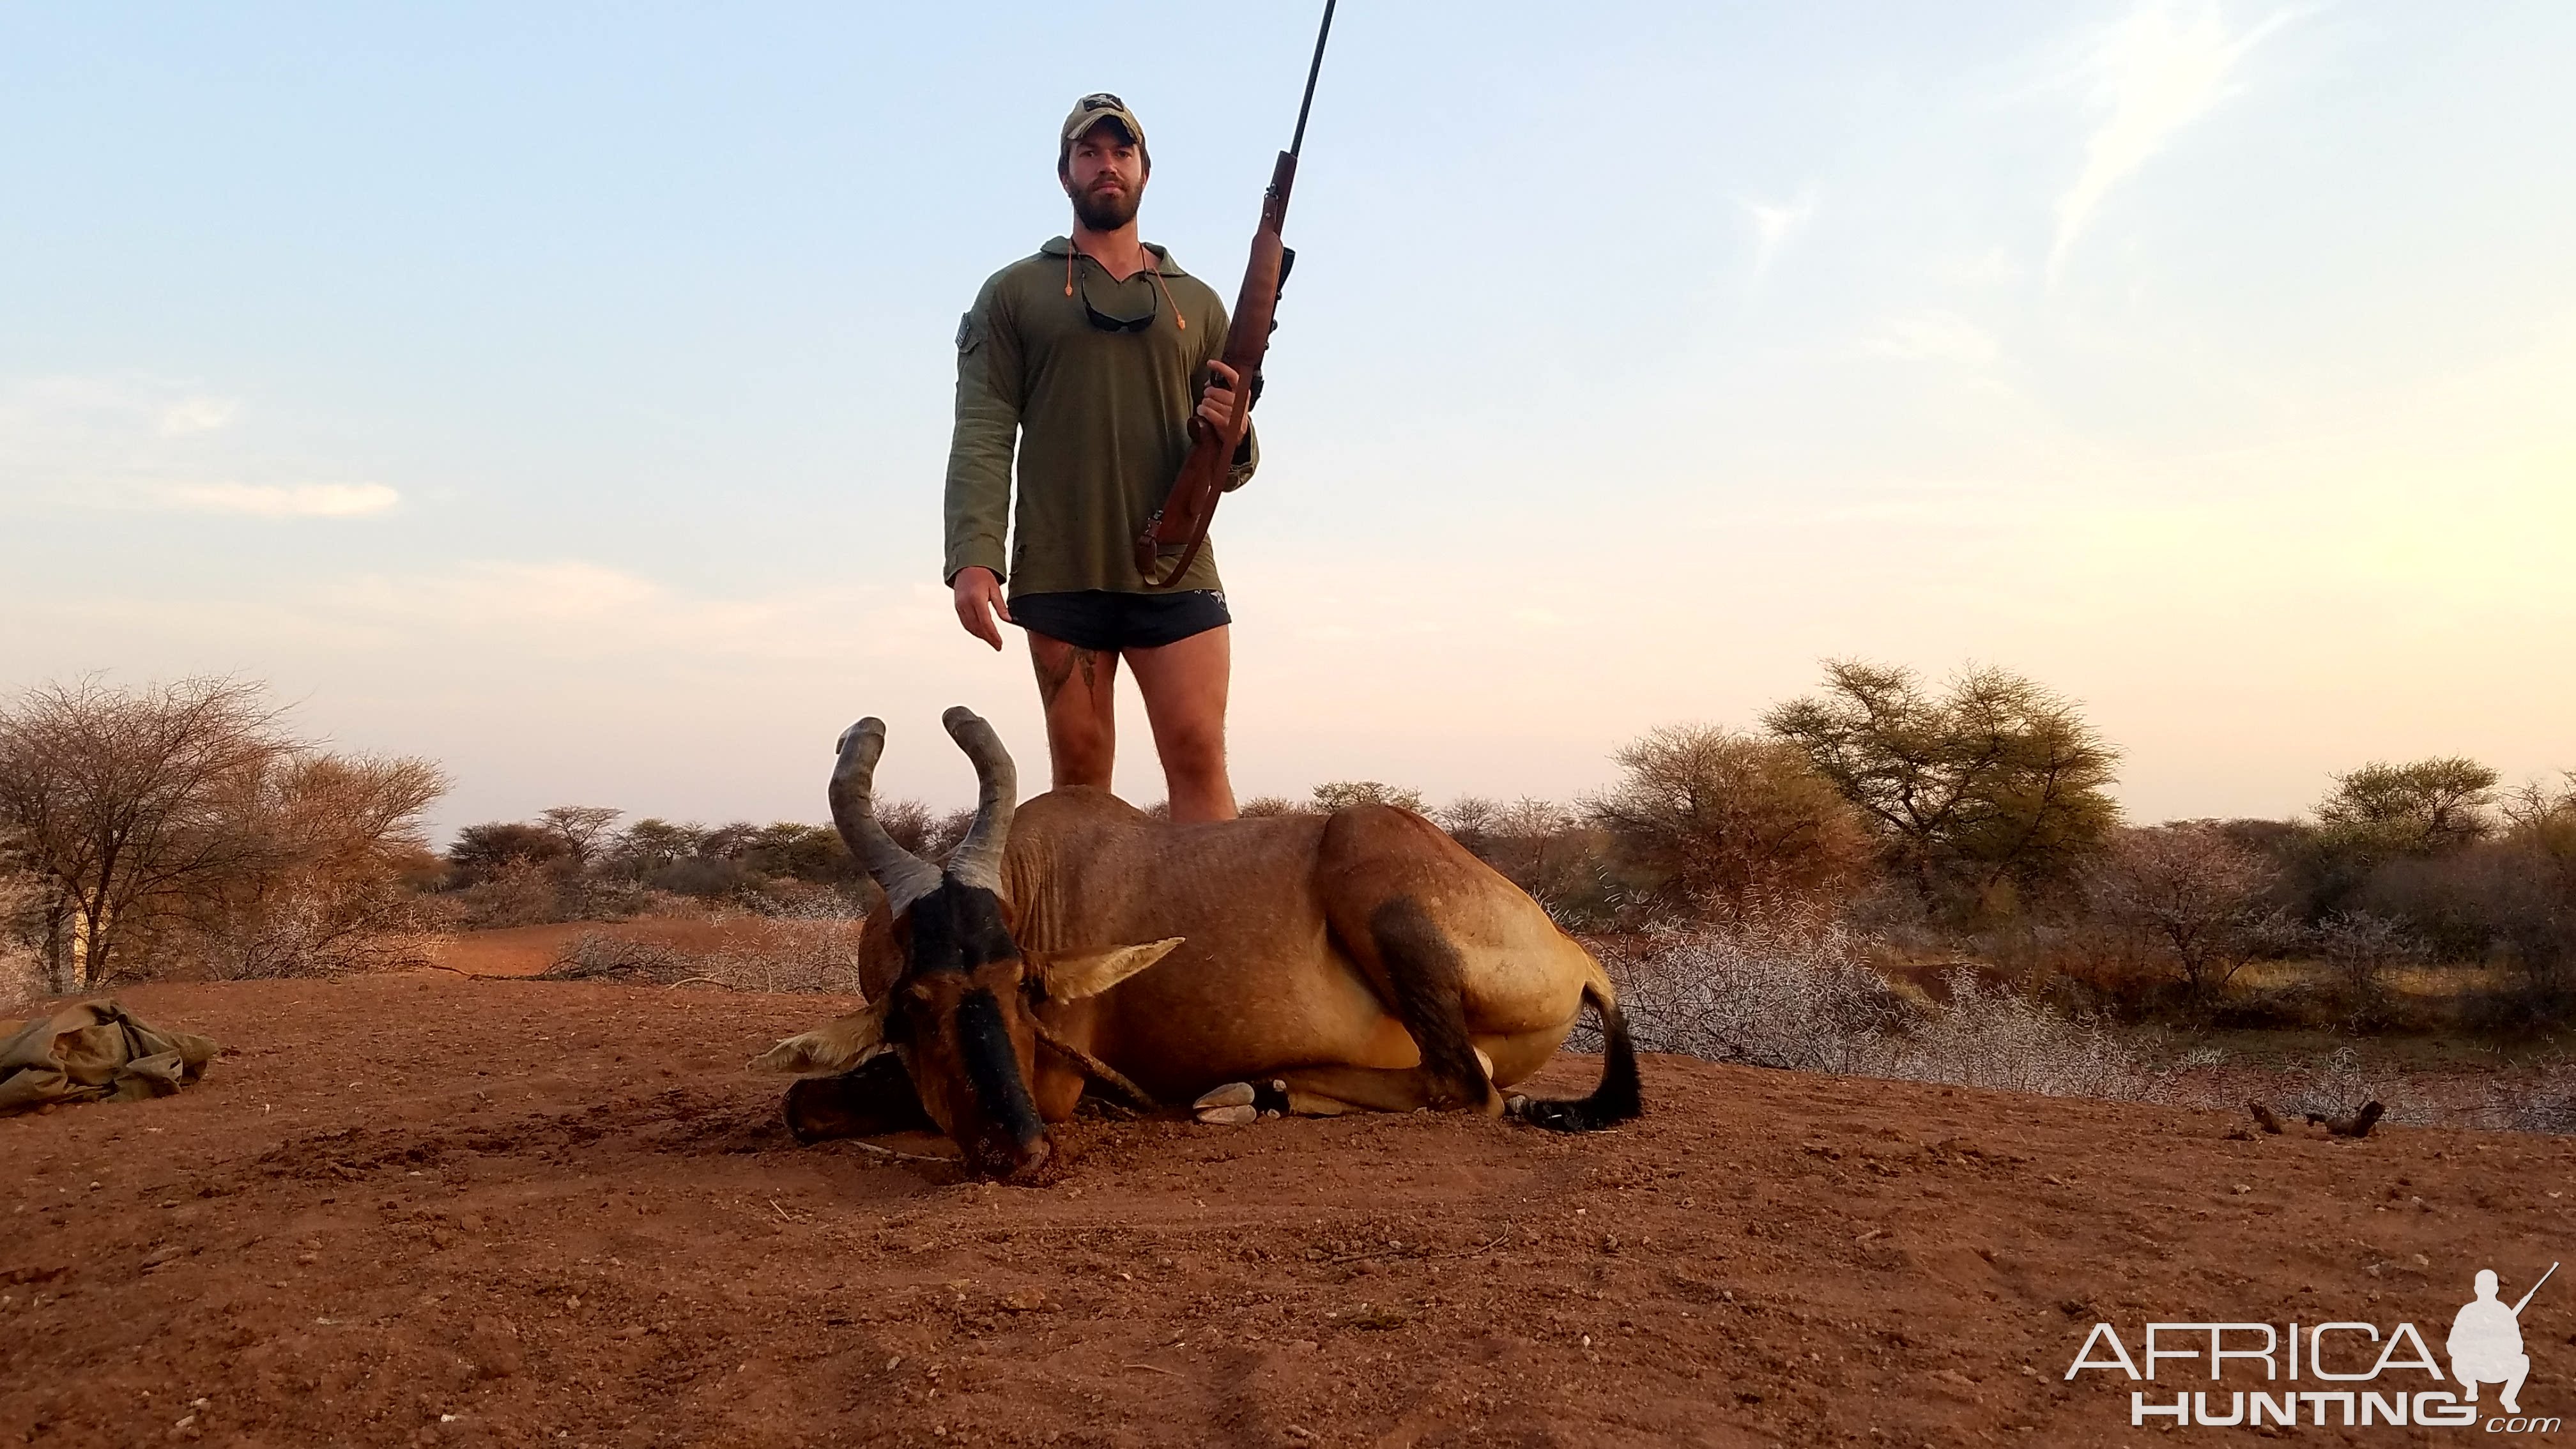
POLYGON ((1517 1111, 1592 1129, 1638 1111, 1636 1055, 1600 964, 1520 887, 1383 804, 1167 825, 1100 789, 1012 807, 989 724, 951 709, 976 822, 945 871, 876 822, 884 724, 842 735, 832 820, 884 887, 860 946, 868 1008, 765 1065, 801 1137, 917 1122, 979 1171, 1025 1176, 1092 1065, 1203 1119, 1265 1109, 1517 1111), (1507 1106, 1584 1000, 1607 1042, 1582 1101, 1507 1106), (894 1055, 902 1073, 878 1055, 894 1055), (904 1091, 909 1085, 909 1091, 904 1091))

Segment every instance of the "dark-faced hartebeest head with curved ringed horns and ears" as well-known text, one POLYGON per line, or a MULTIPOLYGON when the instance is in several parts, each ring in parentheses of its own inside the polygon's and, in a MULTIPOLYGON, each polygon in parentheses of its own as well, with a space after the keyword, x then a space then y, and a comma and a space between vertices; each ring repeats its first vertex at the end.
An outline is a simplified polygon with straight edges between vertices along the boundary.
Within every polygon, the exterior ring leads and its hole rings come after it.
POLYGON ((791 1036, 760 1062, 806 1073, 853 1070, 878 1052, 899 1052, 922 1109, 966 1152, 966 1165, 1025 1178, 1051 1152, 1028 1091, 1038 1055, 1033 1006, 1097 995, 1180 941, 1043 962, 1025 957, 1012 941, 1002 897, 1018 771, 1002 737, 971 709, 956 706, 940 722, 976 771, 974 825, 945 869, 902 848, 876 820, 884 719, 850 724, 832 766, 832 822, 886 892, 886 941, 902 954, 894 985, 866 1011, 791 1036))

